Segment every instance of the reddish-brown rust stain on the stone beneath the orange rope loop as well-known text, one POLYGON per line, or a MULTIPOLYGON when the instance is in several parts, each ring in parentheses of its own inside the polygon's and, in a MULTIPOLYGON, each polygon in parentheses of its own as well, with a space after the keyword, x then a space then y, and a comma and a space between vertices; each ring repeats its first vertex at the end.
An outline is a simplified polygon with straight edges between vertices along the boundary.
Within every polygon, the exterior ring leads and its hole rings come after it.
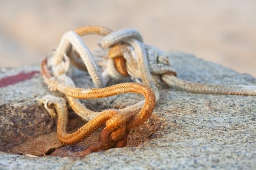
POLYGON ((86 137, 79 144, 60 147, 55 151, 52 150, 54 151, 52 153, 48 152, 45 154, 46 155, 50 154, 51 156, 61 156, 61 157, 66 157, 66 156, 84 157, 89 153, 104 151, 114 147, 124 147, 124 146, 136 147, 138 146, 138 144, 142 142, 161 137, 161 135, 157 134, 157 132, 163 129, 163 126, 165 126, 165 120, 162 118, 159 118, 156 114, 152 114, 149 120, 143 123, 140 127, 130 132, 128 136, 128 141, 127 141, 128 134, 124 137, 124 140, 118 141, 119 143, 109 140, 110 133, 103 132, 104 130, 102 131, 103 133, 102 132, 100 133, 101 129, 103 128, 101 127, 96 132, 86 137), (99 140, 99 136, 100 136, 100 140, 99 140), (101 145, 102 141, 105 141, 103 142, 104 143, 103 145, 101 145))

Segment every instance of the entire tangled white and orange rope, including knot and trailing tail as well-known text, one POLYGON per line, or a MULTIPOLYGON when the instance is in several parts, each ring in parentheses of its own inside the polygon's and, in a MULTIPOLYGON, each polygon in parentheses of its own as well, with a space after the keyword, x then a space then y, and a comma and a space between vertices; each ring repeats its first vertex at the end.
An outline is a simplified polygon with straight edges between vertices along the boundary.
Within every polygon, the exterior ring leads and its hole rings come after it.
POLYGON ((59 140, 64 143, 77 143, 106 122, 106 128, 101 133, 104 136, 101 143, 90 147, 90 152, 97 150, 96 148, 124 146, 127 132, 144 122, 152 113, 155 100, 159 100, 158 88, 163 86, 194 93, 256 95, 256 85, 210 85, 177 78, 177 73, 170 66, 164 52, 144 44, 142 36, 134 29, 112 32, 104 27, 87 26, 74 32, 67 32, 62 36, 53 56, 48 59, 48 62, 47 59, 42 62, 41 70, 43 79, 49 88, 65 94, 67 102, 75 113, 83 119, 90 120, 77 132, 67 134, 65 128, 68 112, 65 100, 46 96, 42 100, 45 107, 51 115, 55 116, 55 111, 50 109, 50 105, 54 105, 59 117, 57 128, 59 140), (101 50, 96 56, 92 55, 80 38, 86 34, 103 36, 99 43, 101 50), (105 59, 105 55, 108 58, 105 59), (96 60, 100 59, 104 63, 102 73, 96 63, 96 60), (88 71, 94 85, 101 89, 77 88, 73 80, 67 76, 70 64, 88 71), (125 76, 131 76, 136 82, 147 86, 126 83, 105 87, 110 78, 122 79, 125 76), (124 109, 102 112, 91 111, 79 102, 79 99, 102 98, 128 92, 144 95, 145 101, 124 109), (118 142, 122 144, 117 144, 118 142))

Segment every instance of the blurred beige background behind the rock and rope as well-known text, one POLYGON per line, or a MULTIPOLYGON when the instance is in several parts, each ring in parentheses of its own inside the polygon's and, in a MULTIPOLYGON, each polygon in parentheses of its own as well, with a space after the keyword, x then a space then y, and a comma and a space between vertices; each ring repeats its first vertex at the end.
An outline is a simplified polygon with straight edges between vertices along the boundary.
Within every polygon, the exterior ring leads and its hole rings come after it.
MULTIPOLYGON (((135 28, 144 42, 256 77, 256 0, 0 0, 0 67, 39 63, 85 25, 135 28)), ((96 49, 98 36, 84 37, 96 49)), ((185 66, 184 66, 185 67, 185 66)))

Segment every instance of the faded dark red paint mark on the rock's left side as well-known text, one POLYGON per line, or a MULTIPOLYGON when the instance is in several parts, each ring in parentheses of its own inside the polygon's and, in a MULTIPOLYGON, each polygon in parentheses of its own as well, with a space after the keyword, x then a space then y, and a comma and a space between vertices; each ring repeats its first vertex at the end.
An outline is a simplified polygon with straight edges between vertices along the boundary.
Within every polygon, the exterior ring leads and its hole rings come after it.
POLYGON ((0 79, 0 87, 5 87, 7 85, 14 85, 19 82, 31 79, 35 74, 40 73, 39 71, 30 71, 27 73, 21 72, 14 76, 8 76, 0 79))

